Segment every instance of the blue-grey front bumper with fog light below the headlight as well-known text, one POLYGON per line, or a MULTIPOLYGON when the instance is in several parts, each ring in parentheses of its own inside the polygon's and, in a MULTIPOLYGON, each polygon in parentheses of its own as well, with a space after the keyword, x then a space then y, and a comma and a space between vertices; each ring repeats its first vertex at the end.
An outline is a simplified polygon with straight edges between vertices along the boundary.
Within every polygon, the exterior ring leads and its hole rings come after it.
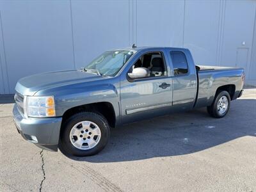
POLYGON ((25 118, 19 112, 17 104, 13 107, 13 120, 22 137, 40 148, 58 150, 61 117, 25 118))

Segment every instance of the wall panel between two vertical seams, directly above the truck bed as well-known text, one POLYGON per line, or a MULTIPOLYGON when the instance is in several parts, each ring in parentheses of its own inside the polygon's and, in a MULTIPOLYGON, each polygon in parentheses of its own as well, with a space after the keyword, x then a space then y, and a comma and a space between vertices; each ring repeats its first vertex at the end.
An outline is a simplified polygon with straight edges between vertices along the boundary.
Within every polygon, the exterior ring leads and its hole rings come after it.
POLYGON ((198 64, 218 63, 222 5, 221 1, 186 1, 184 47, 198 64))

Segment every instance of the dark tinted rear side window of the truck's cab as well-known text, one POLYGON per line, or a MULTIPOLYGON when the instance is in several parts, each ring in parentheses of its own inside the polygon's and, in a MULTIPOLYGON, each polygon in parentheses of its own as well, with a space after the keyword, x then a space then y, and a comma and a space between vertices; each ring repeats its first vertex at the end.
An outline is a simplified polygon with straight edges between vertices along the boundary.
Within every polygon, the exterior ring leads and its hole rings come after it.
POLYGON ((174 75, 182 75, 188 73, 188 62, 186 56, 181 51, 171 51, 174 75))

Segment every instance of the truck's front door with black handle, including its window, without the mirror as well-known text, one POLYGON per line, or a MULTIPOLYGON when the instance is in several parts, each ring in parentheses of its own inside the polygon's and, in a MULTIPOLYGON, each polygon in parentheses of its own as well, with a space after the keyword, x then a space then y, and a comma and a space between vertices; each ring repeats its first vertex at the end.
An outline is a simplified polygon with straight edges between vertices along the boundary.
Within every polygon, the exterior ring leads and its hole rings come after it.
POLYGON ((132 65, 132 68, 134 67, 148 68, 150 76, 132 81, 124 78, 121 81, 120 97, 124 124, 163 115, 168 113, 172 106, 172 77, 168 76, 164 51, 142 54, 132 65))

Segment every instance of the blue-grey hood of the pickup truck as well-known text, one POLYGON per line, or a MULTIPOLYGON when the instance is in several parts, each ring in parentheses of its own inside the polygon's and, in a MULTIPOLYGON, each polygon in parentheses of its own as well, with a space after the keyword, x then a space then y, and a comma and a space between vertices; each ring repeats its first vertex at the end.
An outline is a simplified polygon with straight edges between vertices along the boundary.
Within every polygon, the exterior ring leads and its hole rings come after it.
POLYGON ((15 90, 22 95, 35 95, 39 90, 80 82, 97 81, 102 78, 97 74, 79 70, 47 72, 20 79, 16 84, 15 90))

